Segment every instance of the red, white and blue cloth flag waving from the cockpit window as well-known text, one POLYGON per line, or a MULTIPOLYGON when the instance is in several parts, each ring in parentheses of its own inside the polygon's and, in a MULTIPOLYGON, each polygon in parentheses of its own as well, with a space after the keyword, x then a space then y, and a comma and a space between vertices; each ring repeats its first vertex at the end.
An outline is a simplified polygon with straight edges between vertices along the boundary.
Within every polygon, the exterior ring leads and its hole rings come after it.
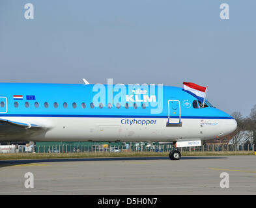
POLYGON ((192 96, 195 96, 199 101, 204 103, 205 101, 205 95, 206 95, 206 89, 207 86, 200 86, 195 83, 183 83, 184 90, 186 90, 188 93, 192 94, 192 96))

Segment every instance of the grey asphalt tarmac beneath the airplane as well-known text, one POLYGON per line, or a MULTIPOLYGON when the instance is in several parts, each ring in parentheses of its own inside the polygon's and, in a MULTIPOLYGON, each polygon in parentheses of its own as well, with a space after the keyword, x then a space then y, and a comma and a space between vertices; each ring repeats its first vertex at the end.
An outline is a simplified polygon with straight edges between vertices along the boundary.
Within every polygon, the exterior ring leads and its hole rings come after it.
MULTIPOLYGON (((0 194, 256 194, 256 156, 0 161, 0 194), (25 188, 31 172, 34 188, 25 188), (229 181, 221 188, 221 173, 229 181), (229 183, 228 183, 229 182, 229 183)), ((31 185, 31 183, 29 183, 31 185)), ((221 183, 223 184, 223 183, 221 183)))

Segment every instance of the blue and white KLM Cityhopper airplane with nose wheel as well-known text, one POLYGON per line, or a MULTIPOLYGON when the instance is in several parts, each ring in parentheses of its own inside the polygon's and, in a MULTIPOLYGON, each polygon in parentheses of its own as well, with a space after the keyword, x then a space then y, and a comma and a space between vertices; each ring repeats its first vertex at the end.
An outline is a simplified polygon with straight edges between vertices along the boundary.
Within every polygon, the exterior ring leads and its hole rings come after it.
POLYGON ((177 86, 0 83, 0 89, 0 142, 172 142, 169 157, 178 160, 178 147, 201 146, 237 125, 177 86))

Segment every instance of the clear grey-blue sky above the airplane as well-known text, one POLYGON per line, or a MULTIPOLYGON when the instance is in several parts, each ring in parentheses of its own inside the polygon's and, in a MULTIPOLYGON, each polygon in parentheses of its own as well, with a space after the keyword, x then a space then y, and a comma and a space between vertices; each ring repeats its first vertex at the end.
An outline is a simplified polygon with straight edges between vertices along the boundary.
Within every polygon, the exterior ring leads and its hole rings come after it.
POLYGON ((218 109, 249 116, 255 10, 255 0, 1 0, 0 82, 186 81, 208 86, 218 109), (24 16, 27 3, 34 19, 24 16), (220 18, 222 3, 229 19, 220 18))

